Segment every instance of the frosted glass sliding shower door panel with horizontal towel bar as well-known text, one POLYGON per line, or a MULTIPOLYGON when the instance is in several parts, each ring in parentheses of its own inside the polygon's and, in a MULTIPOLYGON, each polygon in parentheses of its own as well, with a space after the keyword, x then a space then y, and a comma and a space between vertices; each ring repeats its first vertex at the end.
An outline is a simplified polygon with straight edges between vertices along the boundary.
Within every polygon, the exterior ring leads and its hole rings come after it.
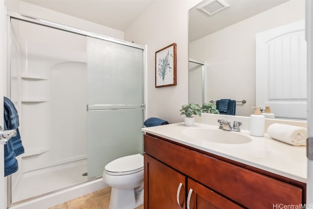
POLYGON ((88 178, 143 152, 143 49, 87 37, 88 178))

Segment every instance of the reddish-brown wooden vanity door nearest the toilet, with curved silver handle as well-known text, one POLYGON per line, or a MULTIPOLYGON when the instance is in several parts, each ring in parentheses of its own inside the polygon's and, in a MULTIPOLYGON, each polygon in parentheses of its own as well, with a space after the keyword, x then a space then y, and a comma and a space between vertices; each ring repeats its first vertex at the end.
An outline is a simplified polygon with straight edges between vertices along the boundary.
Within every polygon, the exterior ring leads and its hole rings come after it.
POLYGON ((185 208, 186 177, 144 154, 144 209, 185 208))

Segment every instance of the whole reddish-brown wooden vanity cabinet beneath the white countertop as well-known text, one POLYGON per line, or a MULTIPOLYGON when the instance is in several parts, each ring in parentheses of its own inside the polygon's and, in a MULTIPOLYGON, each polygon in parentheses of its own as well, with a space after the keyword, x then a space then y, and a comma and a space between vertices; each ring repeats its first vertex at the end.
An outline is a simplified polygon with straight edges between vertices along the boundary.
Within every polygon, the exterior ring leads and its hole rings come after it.
POLYGON ((194 147, 146 133, 144 152, 145 209, 269 209, 305 203, 304 183, 194 147))

